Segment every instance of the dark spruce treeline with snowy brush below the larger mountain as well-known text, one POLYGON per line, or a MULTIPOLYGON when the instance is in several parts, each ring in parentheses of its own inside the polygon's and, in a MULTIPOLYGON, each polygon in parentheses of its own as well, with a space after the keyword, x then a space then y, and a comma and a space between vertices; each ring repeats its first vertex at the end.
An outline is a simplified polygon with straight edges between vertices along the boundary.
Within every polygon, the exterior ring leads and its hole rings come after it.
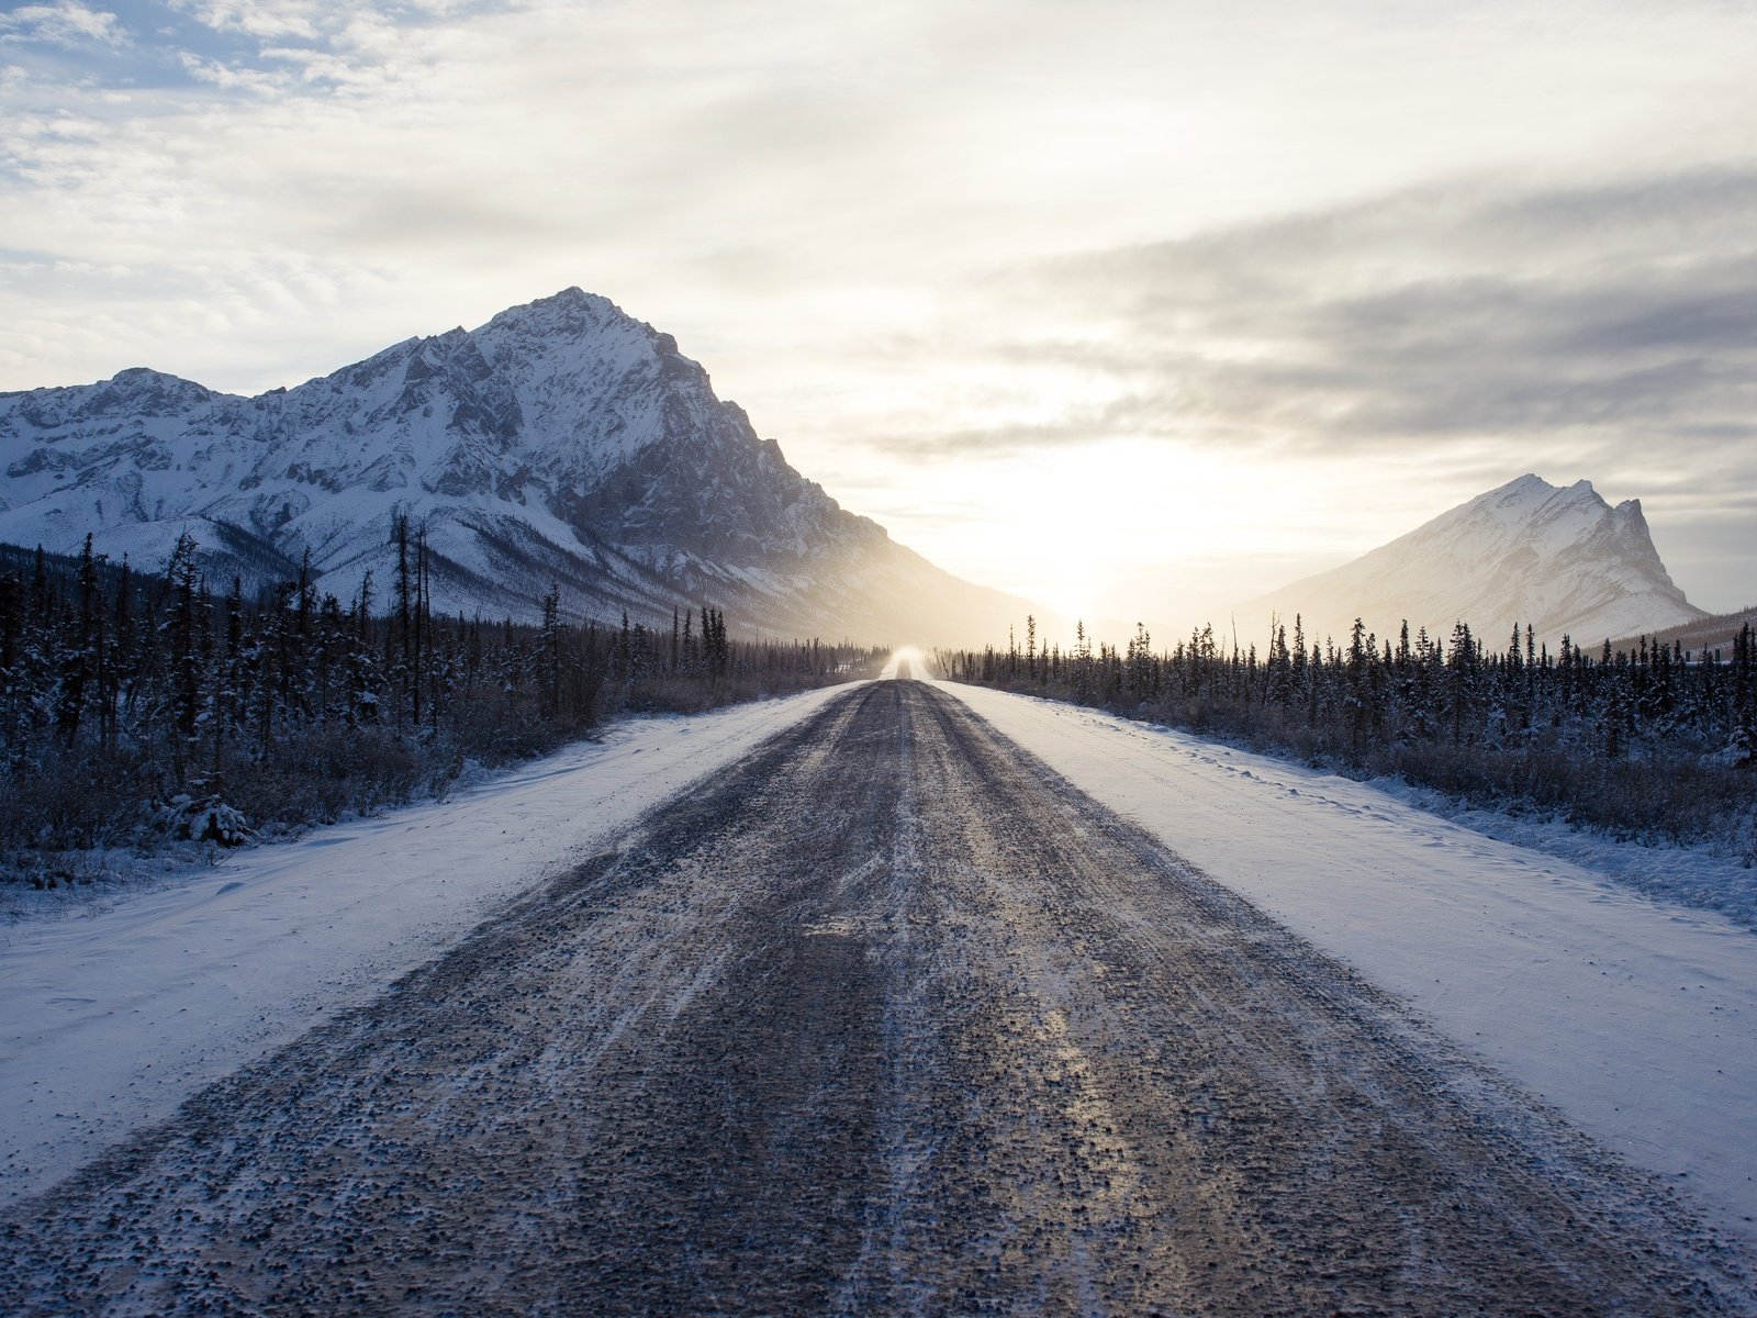
POLYGON ((184 536, 162 573, 0 555, 0 875, 56 886, 79 852, 167 835, 237 842, 443 794, 622 710, 698 712, 877 671, 882 652, 743 641, 715 608, 669 629, 448 617, 425 543, 346 605, 309 568, 220 590, 184 536), (383 601, 383 603, 380 603, 383 601))

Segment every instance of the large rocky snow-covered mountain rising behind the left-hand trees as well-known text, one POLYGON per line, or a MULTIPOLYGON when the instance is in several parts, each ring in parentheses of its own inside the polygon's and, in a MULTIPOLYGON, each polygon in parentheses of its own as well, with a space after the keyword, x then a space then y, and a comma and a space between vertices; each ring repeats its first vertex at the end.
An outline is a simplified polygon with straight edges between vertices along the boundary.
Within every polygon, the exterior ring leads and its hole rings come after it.
POLYGON ((184 529, 220 582, 297 571, 388 599, 397 513, 425 525, 434 606, 564 608, 669 626, 987 640, 1023 601, 961 582, 843 511, 759 439, 676 341, 569 288, 246 399, 130 369, 0 394, 0 541, 158 569, 184 529))

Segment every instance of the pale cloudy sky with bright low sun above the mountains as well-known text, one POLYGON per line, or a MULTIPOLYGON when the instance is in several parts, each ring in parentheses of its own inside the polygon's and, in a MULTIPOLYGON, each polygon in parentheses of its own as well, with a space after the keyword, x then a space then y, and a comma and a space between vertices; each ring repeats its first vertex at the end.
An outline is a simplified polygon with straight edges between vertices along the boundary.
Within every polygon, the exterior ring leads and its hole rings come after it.
POLYGON ((53 0, 0 123, 0 390, 255 394, 578 285, 1068 615, 1527 471, 1757 603, 1743 2, 53 0))

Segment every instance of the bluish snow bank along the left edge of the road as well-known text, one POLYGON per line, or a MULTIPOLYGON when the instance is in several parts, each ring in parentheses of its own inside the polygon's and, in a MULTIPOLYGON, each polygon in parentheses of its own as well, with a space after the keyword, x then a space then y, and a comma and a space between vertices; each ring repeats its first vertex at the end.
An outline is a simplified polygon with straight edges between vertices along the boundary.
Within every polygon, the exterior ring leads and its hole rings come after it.
POLYGON ((318 829, 0 947, 0 1202, 380 993, 829 687, 622 724, 446 803, 318 829))

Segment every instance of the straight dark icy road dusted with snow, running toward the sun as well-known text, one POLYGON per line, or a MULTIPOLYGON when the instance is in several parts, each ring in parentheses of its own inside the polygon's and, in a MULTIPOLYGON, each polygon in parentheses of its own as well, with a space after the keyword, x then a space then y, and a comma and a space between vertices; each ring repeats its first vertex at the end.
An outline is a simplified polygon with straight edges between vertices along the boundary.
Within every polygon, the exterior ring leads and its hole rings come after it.
POLYGON ((4 1313, 1753 1306, 940 689, 852 689, 0 1220, 4 1313))

